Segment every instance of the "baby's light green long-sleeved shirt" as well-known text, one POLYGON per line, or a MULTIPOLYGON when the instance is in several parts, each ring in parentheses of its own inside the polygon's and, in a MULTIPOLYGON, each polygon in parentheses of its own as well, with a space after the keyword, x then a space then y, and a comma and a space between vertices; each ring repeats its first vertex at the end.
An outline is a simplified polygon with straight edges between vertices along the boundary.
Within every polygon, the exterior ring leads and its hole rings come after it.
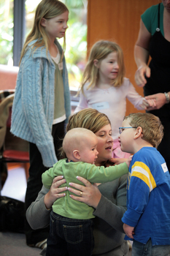
MULTIPOLYGON (((128 173, 128 166, 126 163, 110 167, 98 167, 85 162, 66 162, 66 159, 62 159, 42 174, 42 183, 47 189, 50 189, 50 186, 53 183, 53 178, 55 178, 55 176, 63 175, 66 179, 66 184, 61 185, 61 187, 70 187, 69 182, 85 186, 85 184, 82 184, 81 181, 77 180, 77 176, 86 178, 91 183, 104 183, 120 178, 126 173, 128 173)), ((77 200, 73 200, 69 197, 69 195, 72 194, 69 190, 65 192, 66 196, 58 198, 53 204, 53 211, 56 214, 71 219, 94 218, 93 207, 77 200)))

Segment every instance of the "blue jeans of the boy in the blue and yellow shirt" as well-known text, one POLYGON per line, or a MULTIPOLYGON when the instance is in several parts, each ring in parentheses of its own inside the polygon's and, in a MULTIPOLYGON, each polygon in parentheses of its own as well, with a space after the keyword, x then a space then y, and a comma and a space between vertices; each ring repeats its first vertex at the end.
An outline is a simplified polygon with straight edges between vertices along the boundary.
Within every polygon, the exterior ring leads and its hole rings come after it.
POLYGON ((168 256, 170 253, 170 245, 154 245, 149 239, 147 244, 139 243, 134 240, 131 256, 168 256))

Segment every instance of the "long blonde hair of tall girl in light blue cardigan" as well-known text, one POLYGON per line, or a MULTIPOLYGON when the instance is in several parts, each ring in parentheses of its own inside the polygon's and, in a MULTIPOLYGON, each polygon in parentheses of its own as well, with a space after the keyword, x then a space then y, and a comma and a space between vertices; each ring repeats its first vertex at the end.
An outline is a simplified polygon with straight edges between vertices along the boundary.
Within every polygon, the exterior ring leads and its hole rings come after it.
MULTIPOLYGON (((27 46, 33 40, 36 40, 34 45, 31 46, 32 50, 36 50, 39 47, 46 48, 46 53, 48 51, 49 39, 45 32, 45 28, 41 25, 42 18, 50 19, 55 18, 58 15, 61 15, 63 12, 69 10, 66 5, 58 0, 42 0, 36 7, 34 25, 31 32, 28 34, 26 38, 26 42, 23 45, 23 50, 20 55, 20 62, 23 59, 26 50, 28 50, 27 46)), ((66 48, 66 37, 63 38, 63 52, 66 48)), ((63 58, 63 54, 61 56, 63 58)))

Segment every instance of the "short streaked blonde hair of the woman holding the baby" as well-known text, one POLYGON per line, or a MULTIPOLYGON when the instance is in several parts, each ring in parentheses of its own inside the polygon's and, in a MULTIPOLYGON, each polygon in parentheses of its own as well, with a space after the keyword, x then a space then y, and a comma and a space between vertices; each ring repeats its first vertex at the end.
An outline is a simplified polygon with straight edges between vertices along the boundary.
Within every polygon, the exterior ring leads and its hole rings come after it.
MULTIPOLYGON (((111 125, 107 115, 93 108, 85 108, 69 117, 66 132, 70 129, 81 127, 96 133, 107 124, 111 125)), ((62 158, 66 157, 63 148, 60 149, 60 153, 62 158)))

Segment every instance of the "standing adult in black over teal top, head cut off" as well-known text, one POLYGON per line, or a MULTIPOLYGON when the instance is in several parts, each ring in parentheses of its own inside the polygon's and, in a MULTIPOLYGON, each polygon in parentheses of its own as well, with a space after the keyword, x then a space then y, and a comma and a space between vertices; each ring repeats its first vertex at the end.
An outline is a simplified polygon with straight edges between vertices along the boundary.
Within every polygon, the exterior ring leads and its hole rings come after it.
POLYGON ((155 107, 148 110, 163 124, 164 136, 158 151, 170 170, 170 1, 162 0, 161 4, 150 7, 141 18, 134 48, 138 67, 135 80, 138 86, 144 86, 146 99, 155 99, 155 107))

